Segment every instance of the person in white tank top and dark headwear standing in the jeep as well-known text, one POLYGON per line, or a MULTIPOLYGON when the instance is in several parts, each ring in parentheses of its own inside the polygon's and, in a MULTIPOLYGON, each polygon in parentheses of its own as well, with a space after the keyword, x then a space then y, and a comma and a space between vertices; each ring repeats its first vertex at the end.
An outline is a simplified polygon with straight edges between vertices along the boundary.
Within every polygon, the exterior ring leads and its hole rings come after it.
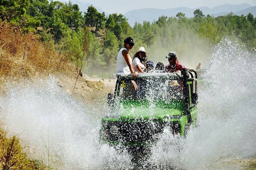
POLYGON ((124 40, 124 47, 121 48, 117 55, 116 73, 131 73, 133 77, 137 77, 137 73, 132 67, 132 58, 129 54, 134 46, 132 37, 127 37, 124 40))

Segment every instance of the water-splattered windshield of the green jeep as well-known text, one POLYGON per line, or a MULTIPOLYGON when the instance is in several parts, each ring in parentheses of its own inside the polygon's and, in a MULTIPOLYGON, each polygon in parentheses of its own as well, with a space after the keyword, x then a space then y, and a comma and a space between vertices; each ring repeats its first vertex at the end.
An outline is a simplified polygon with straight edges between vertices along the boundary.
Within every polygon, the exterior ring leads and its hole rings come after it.
POLYGON ((116 87, 120 100, 181 100, 183 99, 181 74, 143 73, 137 78, 119 74, 116 87))

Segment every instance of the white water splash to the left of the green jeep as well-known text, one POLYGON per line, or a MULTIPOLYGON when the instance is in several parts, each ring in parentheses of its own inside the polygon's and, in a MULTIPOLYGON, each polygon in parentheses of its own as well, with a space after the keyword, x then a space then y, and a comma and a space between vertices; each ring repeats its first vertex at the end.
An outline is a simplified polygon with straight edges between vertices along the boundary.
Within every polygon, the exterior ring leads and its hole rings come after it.
POLYGON ((24 146, 29 146, 29 155, 43 159, 46 165, 100 169, 130 164, 127 154, 100 148, 98 134, 106 106, 78 103, 51 77, 13 86, 0 102, 7 132, 18 135, 24 146))

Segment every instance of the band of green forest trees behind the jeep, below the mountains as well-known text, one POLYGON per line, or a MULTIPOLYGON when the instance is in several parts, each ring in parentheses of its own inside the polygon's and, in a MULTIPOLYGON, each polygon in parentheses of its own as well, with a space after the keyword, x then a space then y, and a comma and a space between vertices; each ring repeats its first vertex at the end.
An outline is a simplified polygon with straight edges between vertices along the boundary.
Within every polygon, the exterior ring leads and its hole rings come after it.
POLYGON ((197 41, 204 39, 216 44, 223 36, 241 41, 251 50, 256 48, 256 18, 251 13, 247 16, 229 13, 214 18, 196 9, 194 15, 188 19, 178 12, 176 17, 161 16, 153 23, 135 23, 132 28, 124 15, 105 16, 92 5, 82 14, 79 6, 71 2, 0 0, 1 20, 19 25, 24 32, 37 33, 42 41, 54 40, 59 51, 77 66, 84 58, 88 62, 85 70, 89 72, 112 67, 114 72, 118 49, 129 36, 135 41, 131 53, 144 46, 149 57, 167 53, 170 48, 185 55, 185 48, 193 48, 197 41))

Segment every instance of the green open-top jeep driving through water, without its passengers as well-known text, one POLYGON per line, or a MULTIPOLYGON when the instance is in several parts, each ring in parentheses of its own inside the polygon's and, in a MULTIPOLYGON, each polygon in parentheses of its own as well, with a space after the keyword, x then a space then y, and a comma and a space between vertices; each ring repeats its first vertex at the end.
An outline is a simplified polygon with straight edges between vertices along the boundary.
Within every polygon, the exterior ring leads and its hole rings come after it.
POLYGON ((100 140, 110 146, 149 146, 168 129, 186 136, 197 121, 197 73, 143 73, 137 78, 118 74, 111 113, 101 120, 100 140))

